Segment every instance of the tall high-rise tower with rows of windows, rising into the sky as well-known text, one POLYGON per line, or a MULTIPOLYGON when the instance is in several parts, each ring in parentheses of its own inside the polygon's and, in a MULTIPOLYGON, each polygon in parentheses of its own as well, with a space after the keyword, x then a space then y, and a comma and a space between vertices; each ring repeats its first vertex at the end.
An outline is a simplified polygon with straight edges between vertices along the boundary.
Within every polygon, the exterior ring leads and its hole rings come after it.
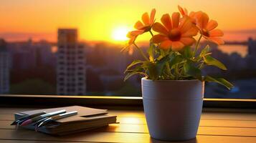
POLYGON ((57 94, 85 95, 85 50, 77 29, 58 29, 57 94))

